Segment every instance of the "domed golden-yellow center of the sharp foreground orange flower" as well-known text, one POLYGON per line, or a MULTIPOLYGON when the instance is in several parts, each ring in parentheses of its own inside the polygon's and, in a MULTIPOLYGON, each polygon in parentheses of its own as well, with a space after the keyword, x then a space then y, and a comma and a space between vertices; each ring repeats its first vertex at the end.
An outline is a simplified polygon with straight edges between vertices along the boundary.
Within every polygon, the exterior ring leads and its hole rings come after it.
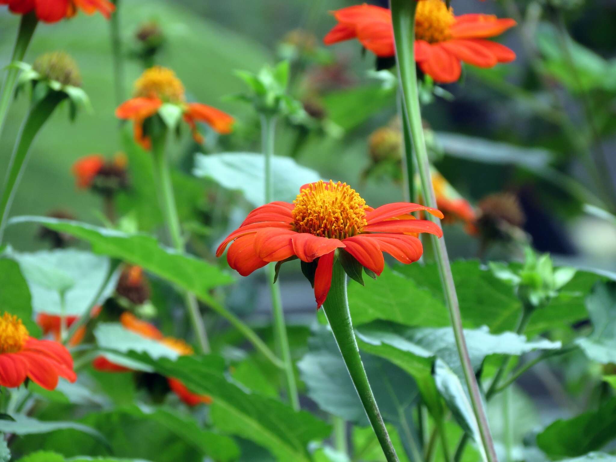
POLYGON ((319 181, 302 189, 293 201, 293 222, 298 233, 344 239, 367 225, 366 201, 346 183, 319 181))

